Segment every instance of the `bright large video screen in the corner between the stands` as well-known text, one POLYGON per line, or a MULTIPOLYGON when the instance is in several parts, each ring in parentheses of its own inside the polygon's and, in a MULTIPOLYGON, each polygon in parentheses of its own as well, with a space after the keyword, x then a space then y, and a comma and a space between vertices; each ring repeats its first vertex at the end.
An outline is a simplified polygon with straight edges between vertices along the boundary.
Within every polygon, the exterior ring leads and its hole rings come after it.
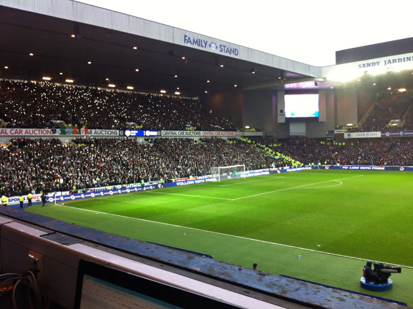
POLYGON ((318 117, 318 94, 286 94, 286 118, 318 117))

